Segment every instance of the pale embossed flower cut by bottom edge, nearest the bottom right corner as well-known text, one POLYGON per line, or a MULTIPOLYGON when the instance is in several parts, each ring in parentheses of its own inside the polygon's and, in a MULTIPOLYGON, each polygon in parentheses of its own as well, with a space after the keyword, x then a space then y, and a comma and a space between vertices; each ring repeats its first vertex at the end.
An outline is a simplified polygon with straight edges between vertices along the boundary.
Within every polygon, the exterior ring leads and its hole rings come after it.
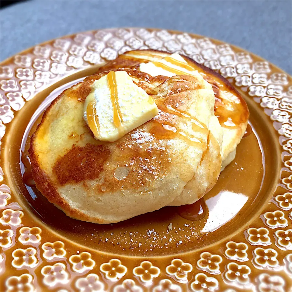
POLYGON ((285 281, 280 276, 273 276, 269 274, 260 274, 256 278, 257 288, 260 292, 285 292, 283 287, 285 281))

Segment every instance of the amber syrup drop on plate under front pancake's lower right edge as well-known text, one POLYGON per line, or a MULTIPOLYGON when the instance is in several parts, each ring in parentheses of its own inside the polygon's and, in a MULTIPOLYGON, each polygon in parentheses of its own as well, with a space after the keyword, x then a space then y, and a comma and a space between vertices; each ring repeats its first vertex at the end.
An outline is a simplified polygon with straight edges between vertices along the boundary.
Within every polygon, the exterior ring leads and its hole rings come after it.
POLYGON ((207 207, 204 198, 196 201, 191 205, 182 205, 177 207, 177 212, 182 218, 191 221, 198 221, 203 219, 207 213, 207 207))

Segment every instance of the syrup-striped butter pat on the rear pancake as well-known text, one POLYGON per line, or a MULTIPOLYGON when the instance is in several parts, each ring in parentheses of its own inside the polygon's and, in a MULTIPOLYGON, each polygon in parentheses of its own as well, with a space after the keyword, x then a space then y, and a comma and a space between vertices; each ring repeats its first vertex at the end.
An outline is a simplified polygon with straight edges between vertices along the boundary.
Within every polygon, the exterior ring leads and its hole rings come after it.
POLYGON ((175 75, 192 75, 201 78, 198 71, 196 71, 188 62, 179 54, 172 54, 159 61, 141 63, 140 71, 148 73, 151 76, 168 76, 175 75))

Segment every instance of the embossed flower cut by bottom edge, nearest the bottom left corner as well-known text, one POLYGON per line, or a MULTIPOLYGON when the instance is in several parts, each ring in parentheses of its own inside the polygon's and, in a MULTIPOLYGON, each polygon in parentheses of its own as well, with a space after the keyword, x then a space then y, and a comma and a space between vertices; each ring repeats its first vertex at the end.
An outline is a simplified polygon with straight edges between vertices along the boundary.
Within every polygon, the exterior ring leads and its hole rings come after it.
POLYGON ((22 274, 21 276, 12 276, 6 280, 7 292, 33 292, 33 276, 30 274, 22 274))

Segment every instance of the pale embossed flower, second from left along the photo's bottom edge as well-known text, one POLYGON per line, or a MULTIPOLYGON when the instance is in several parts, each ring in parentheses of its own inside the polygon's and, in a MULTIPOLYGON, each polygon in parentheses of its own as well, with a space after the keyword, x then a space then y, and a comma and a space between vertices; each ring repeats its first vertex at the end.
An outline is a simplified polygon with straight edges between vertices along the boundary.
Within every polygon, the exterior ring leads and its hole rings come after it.
POLYGON ((41 269, 41 273, 44 276, 43 282, 49 287, 53 287, 58 283, 67 284, 69 282, 66 266, 61 262, 57 262, 53 266, 44 266, 41 269))

